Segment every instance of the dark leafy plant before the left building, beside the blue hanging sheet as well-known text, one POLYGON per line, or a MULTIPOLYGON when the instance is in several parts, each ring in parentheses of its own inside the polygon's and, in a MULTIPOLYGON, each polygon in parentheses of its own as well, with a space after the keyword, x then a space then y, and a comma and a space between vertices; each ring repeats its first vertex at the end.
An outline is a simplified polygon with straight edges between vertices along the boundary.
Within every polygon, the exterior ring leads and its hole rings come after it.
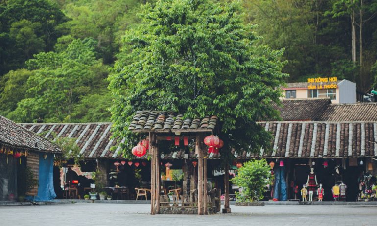
POLYGON ((31 191, 35 186, 38 186, 38 180, 35 179, 31 168, 29 166, 19 167, 17 171, 18 196, 24 196, 25 193, 31 191))

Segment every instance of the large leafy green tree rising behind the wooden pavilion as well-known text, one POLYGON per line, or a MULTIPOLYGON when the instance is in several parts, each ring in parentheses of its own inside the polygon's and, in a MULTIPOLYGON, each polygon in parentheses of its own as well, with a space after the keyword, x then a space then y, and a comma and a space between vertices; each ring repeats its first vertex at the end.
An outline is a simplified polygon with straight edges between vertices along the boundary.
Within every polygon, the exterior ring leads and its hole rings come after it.
MULTIPOLYGON (((219 117, 225 153, 257 151, 271 136, 257 121, 276 118, 283 50, 257 46, 237 2, 164 0, 146 4, 142 25, 126 32, 132 62, 117 62, 110 76, 114 136, 126 137, 135 111, 183 112, 185 117, 219 117)), ((129 155, 130 148, 124 148, 129 155)))

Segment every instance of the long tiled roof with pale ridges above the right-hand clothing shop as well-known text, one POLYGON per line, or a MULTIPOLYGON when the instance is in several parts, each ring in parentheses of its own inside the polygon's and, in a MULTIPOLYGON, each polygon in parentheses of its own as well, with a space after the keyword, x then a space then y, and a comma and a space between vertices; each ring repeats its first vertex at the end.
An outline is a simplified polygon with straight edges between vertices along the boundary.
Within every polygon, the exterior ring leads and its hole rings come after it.
POLYGON ((238 158, 340 158, 377 156, 377 122, 264 122, 274 151, 238 158))

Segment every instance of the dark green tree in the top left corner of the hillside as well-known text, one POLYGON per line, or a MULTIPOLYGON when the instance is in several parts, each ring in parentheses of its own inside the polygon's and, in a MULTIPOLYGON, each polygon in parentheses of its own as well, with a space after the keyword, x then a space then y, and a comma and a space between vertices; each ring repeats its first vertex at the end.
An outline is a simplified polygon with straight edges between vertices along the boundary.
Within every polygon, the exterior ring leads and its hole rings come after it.
POLYGON ((52 50, 67 18, 49 0, 6 0, 0 3, 0 74, 22 68, 40 51, 52 50))

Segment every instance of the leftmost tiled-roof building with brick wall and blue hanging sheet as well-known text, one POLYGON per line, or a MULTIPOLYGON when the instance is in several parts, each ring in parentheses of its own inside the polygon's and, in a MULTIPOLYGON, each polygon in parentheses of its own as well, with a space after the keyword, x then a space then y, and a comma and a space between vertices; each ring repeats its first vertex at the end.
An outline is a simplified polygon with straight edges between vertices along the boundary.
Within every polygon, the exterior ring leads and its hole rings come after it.
POLYGON ((46 138, 0 116, 0 201, 15 201, 24 195, 37 201, 54 199, 53 161, 60 154, 60 148, 46 138), (38 180, 30 191, 21 185, 27 175, 19 173, 25 167, 30 167, 38 180))

